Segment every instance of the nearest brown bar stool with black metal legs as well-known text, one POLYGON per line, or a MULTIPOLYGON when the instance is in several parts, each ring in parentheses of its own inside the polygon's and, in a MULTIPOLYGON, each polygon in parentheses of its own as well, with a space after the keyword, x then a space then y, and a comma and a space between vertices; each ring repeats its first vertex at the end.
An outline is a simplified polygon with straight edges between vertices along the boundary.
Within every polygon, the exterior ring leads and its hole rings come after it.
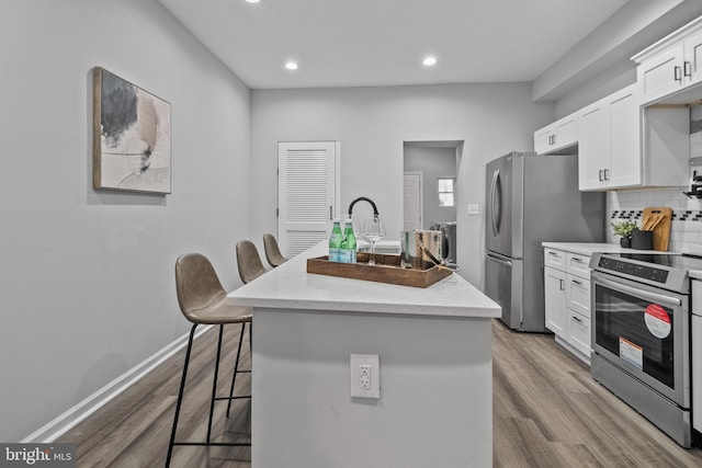
MULTIPOLYGON (((185 363, 183 365, 183 375, 180 383, 180 391, 178 392, 178 402, 176 404, 176 416, 173 418, 173 427, 171 438, 168 446, 168 457, 166 466, 170 466, 173 446, 176 445, 218 445, 218 446, 250 446, 251 442, 211 442, 212 434, 212 416, 214 413, 215 401, 231 400, 240 398, 251 398, 250 395, 234 396, 234 381, 228 397, 217 397, 217 375, 219 373, 219 355, 222 353, 222 335, 224 326, 228 323, 240 323, 241 333, 239 334, 239 344, 237 349, 237 359, 234 367, 234 378, 238 373, 250 373, 251 370, 239 369, 239 355, 241 354, 241 341, 246 324, 251 323, 252 309, 249 307, 230 306, 227 304, 227 293, 222 287, 219 278, 210 263, 210 260, 199 253, 188 253, 181 255, 176 261, 176 290, 178 293, 178 304, 185 319, 193 323, 190 330, 190 339, 188 341, 188 351, 185 352, 185 363), (205 442, 176 442, 176 430, 178 427, 178 416, 180 415, 181 403, 183 401, 183 390, 188 376, 188 364, 190 363, 190 354, 193 347, 193 338, 195 329, 199 324, 219 326, 219 338, 217 341, 217 355, 215 357, 215 376, 212 385, 212 398, 210 401, 210 421, 207 424, 207 438, 205 442)), ((249 333, 250 334, 250 333, 249 333)), ((227 415, 229 414, 229 406, 227 407, 227 415)))

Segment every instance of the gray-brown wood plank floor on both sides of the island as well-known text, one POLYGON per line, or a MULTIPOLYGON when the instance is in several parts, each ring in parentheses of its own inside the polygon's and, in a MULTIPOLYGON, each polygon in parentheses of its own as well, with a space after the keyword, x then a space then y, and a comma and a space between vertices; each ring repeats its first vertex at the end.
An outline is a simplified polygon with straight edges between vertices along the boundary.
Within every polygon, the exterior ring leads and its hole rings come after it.
MULTIPOLYGON (((225 391, 237 340, 238 330, 226 329, 225 391)), ((247 338, 248 364, 246 343, 247 338)), ((179 440, 205 436, 215 346, 216 329, 195 342, 179 440)), ((495 320, 492 353, 495 467, 702 467, 701 450, 681 448, 593 381, 553 336, 514 333, 495 320)), ((163 466, 183 358, 184 351, 176 354, 60 437, 77 444, 78 467, 163 466)), ((249 376, 240 375, 237 390, 249 388, 249 376)), ((213 436, 247 440, 248 400, 239 400, 229 419, 225 411, 226 403, 217 403, 213 436)), ((171 466, 240 468, 250 467, 250 459, 248 447, 176 447, 171 466)))

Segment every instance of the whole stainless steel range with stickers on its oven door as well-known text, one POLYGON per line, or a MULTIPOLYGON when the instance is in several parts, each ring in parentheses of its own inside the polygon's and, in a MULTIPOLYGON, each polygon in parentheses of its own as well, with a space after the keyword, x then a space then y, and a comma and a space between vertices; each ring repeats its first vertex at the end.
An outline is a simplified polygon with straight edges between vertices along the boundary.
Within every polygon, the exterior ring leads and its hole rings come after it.
POLYGON ((596 253, 590 261, 592 377, 690 447, 690 270, 680 254, 596 253))

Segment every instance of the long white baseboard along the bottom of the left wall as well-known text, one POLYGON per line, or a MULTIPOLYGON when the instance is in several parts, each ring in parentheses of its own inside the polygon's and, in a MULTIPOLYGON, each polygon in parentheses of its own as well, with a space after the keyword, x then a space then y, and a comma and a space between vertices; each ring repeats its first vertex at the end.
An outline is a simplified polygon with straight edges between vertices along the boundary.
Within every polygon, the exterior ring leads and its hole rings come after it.
MULTIPOLYGON (((210 327, 212 326, 199 327, 197 331, 195 332, 195 338, 207 331, 210 327)), ((76 424, 94 413, 102 406, 106 404, 110 400, 123 392, 134 383, 147 375, 158 365, 163 363, 170 356, 176 354, 182 347, 184 347, 188 344, 189 336, 190 332, 178 338, 176 341, 168 344, 156 354, 149 356, 146 361, 127 370, 116 379, 112 380, 110 384, 105 385, 100 390, 86 398, 83 401, 70 408, 68 411, 66 411, 55 420, 46 423, 43 427, 27 435, 22 441, 20 441, 20 443, 50 444, 52 442, 64 435, 67 431, 76 426, 76 424)))

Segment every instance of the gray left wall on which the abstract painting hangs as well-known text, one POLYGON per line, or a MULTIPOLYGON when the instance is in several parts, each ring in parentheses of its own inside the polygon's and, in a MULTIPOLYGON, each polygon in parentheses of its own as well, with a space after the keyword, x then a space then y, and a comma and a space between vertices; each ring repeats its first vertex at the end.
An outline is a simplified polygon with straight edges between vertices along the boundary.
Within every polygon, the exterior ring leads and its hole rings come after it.
POLYGON ((177 256, 239 284, 250 93, 155 0, 0 2, 0 441, 189 329, 177 256), (92 190, 92 67, 171 103, 172 194, 92 190))

